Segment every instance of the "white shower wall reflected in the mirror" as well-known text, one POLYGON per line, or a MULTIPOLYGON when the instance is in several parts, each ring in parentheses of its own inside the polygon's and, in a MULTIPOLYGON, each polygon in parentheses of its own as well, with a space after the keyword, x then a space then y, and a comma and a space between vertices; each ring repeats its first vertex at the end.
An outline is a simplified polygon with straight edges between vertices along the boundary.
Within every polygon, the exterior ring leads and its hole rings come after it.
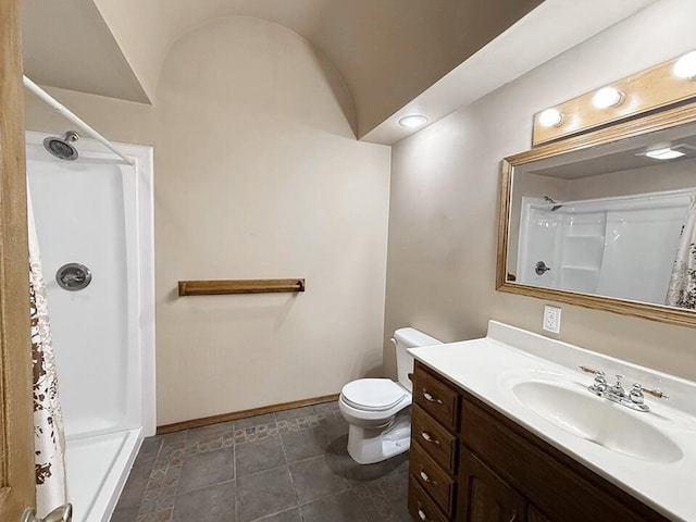
POLYGON ((523 198, 518 282, 663 303, 688 194, 568 202, 523 198), (538 271, 542 261, 550 270, 538 271))

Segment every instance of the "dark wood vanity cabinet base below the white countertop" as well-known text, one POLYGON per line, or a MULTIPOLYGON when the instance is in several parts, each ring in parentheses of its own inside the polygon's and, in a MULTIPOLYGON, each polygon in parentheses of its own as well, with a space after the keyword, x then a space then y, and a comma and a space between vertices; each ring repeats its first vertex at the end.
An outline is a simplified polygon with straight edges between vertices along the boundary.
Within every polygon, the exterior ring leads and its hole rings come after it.
POLYGON ((669 520, 418 361, 412 408, 415 521, 669 520))

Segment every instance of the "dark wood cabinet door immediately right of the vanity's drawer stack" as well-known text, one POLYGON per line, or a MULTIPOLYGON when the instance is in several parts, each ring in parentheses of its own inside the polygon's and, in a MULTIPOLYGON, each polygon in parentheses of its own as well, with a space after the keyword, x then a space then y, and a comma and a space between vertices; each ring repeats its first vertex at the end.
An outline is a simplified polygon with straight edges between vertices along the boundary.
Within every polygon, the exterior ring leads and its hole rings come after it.
POLYGON ((465 446, 460 447, 459 522, 526 522, 526 501, 465 446))

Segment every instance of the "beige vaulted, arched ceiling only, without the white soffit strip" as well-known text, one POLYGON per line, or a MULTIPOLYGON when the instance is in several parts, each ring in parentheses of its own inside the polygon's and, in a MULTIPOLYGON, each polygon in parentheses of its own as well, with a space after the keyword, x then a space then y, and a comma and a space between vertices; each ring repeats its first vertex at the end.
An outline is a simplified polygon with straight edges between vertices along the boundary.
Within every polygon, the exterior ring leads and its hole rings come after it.
POLYGON ((542 2, 24 0, 25 67, 40 84, 156 102, 177 39, 222 16, 254 16, 288 27, 331 61, 361 136, 542 2))

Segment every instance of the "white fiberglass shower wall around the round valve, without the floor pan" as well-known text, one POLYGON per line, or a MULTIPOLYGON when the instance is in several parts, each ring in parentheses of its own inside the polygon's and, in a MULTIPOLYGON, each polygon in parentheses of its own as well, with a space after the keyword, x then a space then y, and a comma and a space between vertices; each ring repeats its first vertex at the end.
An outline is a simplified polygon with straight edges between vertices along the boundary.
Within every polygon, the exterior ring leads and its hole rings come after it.
MULTIPOLYGON (((144 347, 139 323, 138 178, 113 154, 85 150, 88 140, 80 140, 77 161, 57 160, 39 144, 27 133, 27 178, 66 438, 142 426, 144 412, 152 414, 144 400, 153 397, 146 397, 152 378, 142 373, 144 353, 152 347, 144 347), (67 263, 90 270, 87 287, 59 286, 57 272, 67 263)), ((145 421, 147 431, 153 422, 145 421)))

